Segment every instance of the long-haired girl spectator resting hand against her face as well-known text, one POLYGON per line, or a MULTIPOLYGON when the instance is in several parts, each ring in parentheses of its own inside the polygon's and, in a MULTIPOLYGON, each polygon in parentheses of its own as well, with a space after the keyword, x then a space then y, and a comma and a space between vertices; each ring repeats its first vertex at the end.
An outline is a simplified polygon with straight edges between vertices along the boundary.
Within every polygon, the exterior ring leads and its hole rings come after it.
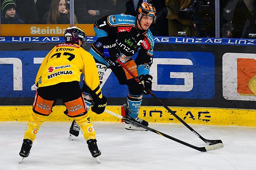
POLYGON ((42 24, 69 24, 69 9, 66 5, 67 0, 52 0, 50 11, 44 14, 42 24))

